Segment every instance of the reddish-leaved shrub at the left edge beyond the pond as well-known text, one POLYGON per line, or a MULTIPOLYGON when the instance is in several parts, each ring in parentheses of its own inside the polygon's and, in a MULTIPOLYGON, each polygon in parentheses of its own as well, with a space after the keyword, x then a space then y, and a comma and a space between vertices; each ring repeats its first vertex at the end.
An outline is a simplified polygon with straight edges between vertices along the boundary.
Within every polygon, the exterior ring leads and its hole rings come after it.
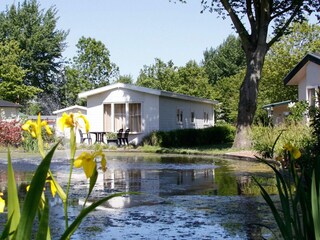
POLYGON ((22 142, 21 123, 16 120, 0 120, 0 145, 19 146, 22 142))

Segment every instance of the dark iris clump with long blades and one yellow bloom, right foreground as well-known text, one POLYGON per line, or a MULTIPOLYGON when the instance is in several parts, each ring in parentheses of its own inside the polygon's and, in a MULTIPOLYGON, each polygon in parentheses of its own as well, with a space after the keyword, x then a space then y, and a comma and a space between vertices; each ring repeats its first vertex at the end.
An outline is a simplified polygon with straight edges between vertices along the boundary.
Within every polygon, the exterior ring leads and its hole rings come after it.
POLYGON ((260 159, 275 173, 279 195, 279 207, 257 179, 261 195, 269 205, 284 239, 320 239, 320 159, 316 159, 312 171, 299 164, 299 149, 291 144, 283 147, 282 168, 260 159), (310 180, 311 179, 311 180, 310 180))

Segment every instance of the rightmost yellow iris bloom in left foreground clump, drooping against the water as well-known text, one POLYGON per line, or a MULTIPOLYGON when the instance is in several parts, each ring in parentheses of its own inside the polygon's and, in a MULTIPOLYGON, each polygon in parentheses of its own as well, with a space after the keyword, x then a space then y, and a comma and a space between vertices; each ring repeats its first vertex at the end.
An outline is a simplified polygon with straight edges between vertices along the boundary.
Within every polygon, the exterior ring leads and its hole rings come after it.
POLYGON ((106 158, 102 151, 97 151, 94 153, 82 152, 79 157, 77 157, 74 161, 74 167, 76 168, 83 168, 84 173, 86 174, 87 178, 90 178, 94 170, 96 169, 96 161, 97 157, 101 157, 101 167, 102 170, 106 170, 106 158))

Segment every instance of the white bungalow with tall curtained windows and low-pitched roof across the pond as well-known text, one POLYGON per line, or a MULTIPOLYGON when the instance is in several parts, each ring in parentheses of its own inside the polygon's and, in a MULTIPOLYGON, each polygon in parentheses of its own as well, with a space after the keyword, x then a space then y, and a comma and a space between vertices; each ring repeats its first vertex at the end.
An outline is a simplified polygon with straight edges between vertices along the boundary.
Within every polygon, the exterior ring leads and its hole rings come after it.
MULTIPOLYGON (((130 129, 129 141, 138 144, 152 131, 205 128, 214 125, 217 101, 116 83, 82 92, 92 131, 130 129)), ((192 137, 192 136, 190 136, 192 137)))

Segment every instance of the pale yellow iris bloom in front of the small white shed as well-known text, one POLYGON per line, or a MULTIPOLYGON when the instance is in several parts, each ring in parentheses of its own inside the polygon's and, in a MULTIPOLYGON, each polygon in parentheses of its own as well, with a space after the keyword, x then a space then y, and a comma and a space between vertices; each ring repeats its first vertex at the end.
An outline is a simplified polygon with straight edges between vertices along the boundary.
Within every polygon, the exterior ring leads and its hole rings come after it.
POLYGON ((82 127, 81 121, 83 120, 85 124, 85 130, 88 133, 90 129, 89 122, 87 118, 81 113, 63 113, 62 117, 58 121, 59 128, 64 131, 65 128, 74 128, 74 127, 82 127))

